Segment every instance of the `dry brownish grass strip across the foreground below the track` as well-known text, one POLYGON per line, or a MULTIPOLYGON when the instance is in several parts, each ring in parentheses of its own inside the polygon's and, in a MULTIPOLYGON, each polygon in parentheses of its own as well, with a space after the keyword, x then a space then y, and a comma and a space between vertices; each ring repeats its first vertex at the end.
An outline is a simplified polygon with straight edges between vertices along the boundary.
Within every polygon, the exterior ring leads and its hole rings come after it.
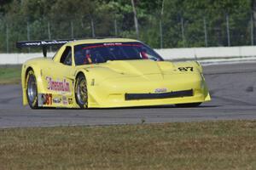
POLYGON ((0 169, 256 169, 256 122, 0 129, 0 169))

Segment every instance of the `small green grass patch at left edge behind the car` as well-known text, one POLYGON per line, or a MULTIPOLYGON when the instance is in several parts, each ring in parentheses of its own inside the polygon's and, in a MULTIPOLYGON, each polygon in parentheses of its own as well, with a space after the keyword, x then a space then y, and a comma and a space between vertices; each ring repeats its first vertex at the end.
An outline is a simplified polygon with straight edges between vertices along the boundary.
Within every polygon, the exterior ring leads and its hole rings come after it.
POLYGON ((21 65, 0 65, 0 84, 20 83, 21 65))

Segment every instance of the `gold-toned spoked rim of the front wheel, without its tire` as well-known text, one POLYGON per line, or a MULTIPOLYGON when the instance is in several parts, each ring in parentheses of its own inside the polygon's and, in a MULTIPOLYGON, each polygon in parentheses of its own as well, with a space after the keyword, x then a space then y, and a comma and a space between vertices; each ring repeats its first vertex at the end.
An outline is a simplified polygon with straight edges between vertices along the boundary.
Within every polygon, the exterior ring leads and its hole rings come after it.
POLYGON ((87 105, 87 87, 84 78, 81 78, 78 83, 78 100, 81 105, 87 105))

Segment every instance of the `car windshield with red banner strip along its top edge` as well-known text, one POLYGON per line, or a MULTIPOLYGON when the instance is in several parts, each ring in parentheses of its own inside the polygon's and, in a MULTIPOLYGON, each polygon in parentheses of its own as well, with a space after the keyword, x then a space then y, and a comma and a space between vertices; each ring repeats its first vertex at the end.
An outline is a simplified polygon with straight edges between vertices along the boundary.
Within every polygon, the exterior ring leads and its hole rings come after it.
POLYGON ((105 63, 108 60, 153 59, 163 60, 153 49, 141 42, 108 42, 80 44, 74 47, 76 65, 105 63))

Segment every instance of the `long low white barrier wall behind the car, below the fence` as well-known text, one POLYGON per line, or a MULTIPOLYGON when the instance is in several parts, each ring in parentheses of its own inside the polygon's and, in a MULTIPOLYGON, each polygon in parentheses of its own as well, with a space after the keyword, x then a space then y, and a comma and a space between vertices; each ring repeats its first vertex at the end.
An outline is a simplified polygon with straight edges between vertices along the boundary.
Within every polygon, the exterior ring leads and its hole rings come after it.
MULTIPOLYGON (((204 61, 250 60, 256 59, 256 46, 216 47, 216 48, 163 48, 155 49, 164 59, 197 59, 204 61)), ((49 53, 48 57, 55 53, 49 53)), ((17 65, 27 59, 43 57, 42 53, 34 54, 0 54, 0 65, 17 65)))

